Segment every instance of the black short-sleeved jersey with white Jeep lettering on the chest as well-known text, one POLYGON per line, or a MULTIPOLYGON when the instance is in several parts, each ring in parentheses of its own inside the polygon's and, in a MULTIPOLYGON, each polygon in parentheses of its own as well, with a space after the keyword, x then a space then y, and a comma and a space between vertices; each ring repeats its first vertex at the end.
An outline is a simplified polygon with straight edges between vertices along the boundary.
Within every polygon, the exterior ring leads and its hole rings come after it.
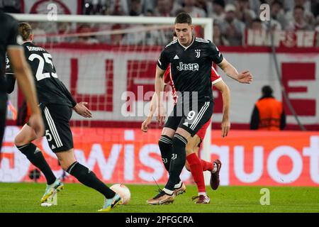
MULTIPOLYGON (((169 43, 162 51, 158 67, 167 70, 171 64, 171 75, 177 92, 185 98, 186 92, 198 92, 198 101, 213 101, 211 89, 211 65, 223 61, 214 43, 193 36, 193 42, 184 47, 178 40, 169 43)), ((185 99, 181 100, 185 102, 185 99)))

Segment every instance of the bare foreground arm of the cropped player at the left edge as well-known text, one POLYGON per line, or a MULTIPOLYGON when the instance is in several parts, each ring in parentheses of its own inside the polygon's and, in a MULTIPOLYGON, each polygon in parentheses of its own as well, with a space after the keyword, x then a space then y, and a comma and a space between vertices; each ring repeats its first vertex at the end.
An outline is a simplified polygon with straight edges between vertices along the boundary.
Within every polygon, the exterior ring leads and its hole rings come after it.
POLYGON ((11 45, 7 51, 11 67, 18 80, 18 85, 30 104, 32 113, 29 120, 30 126, 34 129, 37 137, 42 137, 44 135, 43 119, 38 107, 38 97, 35 92, 34 80, 30 67, 26 62, 23 48, 18 45, 11 45))

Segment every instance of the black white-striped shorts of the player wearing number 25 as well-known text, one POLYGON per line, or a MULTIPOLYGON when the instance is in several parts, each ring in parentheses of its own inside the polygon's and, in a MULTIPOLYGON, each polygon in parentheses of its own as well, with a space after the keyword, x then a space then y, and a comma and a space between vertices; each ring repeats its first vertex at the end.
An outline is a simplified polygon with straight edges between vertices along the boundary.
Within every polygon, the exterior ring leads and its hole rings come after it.
POLYGON ((73 136, 69 126, 72 108, 65 105, 47 104, 42 109, 45 137, 54 153, 73 148, 73 136))

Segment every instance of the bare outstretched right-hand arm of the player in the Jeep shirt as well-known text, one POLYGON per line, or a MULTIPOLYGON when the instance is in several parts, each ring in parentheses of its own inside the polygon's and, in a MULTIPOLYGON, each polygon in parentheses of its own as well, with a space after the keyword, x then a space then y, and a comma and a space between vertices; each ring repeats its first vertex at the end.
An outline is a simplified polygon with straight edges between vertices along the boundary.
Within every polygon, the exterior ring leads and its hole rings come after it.
POLYGON ((223 61, 220 62, 218 66, 225 72, 225 74, 228 75, 228 77, 237 80, 237 82, 242 84, 250 84, 252 82, 252 74, 249 70, 238 73, 236 68, 233 67, 233 65, 231 65, 225 58, 223 58, 223 61))

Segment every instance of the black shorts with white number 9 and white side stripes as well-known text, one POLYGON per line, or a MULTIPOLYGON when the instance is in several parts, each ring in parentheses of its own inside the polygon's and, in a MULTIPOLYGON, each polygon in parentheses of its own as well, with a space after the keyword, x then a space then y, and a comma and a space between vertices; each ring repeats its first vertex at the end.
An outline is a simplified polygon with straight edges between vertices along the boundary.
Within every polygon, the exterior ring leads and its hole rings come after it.
POLYGON ((198 103, 196 108, 189 107, 184 111, 184 106, 176 104, 164 127, 172 128, 174 131, 177 128, 183 128, 194 136, 211 119, 213 106, 213 101, 206 101, 198 103))

